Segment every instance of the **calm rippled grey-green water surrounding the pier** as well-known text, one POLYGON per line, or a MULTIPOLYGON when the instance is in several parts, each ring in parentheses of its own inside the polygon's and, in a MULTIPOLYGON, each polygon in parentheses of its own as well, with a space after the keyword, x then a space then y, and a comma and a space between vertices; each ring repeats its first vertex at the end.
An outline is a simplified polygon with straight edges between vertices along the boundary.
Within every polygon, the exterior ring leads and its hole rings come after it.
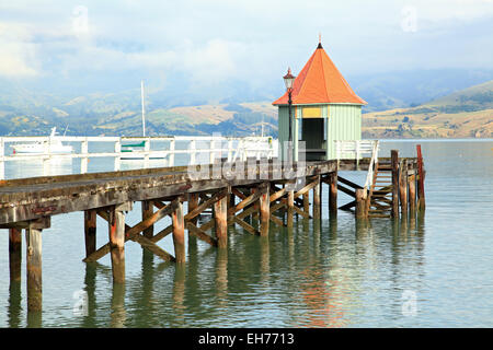
MULTIPOLYGON (((82 213, 54 217, 43 232, 42 314, 26 312, 25 256, 21 284, 9 285, 2 230, 0 327, 493 327, 493 141, 419 143, 424 217, 364 226, 340 211, 330 220, 324 187, 320 222, 299 219, 293 231, 272 223, 268 238, 230 229, 221 253, 192 240, 183 267, 128 242, 125 287, 113 285, 108 256, 81 261, 82 213), (87 315, 73 311, 81 291, 87 315)), ((415 144, 385 142, 381 154, 414 156, 415 144)), ((26 168, 16 166, 7 173, 26 168)), ((366 173, 345 175, 363 184, 366 173)), ((346 201, 340 194, 340 205, 346 201)), ((139 212, 136 203, 128 224, 139 212)), ((98 230, 103 245, 107 225, 98 221, 98 230)), ((159 244, 173 253, 171 237, 159 244)))

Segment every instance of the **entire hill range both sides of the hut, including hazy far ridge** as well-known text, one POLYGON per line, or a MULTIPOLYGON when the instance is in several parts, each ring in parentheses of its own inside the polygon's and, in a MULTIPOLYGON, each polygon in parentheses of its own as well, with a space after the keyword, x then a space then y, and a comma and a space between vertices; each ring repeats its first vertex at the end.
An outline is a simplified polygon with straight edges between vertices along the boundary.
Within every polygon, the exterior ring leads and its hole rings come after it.
MULTIPOLYGON (((371 110, 364 114, 365 137, 492 137, 493 80, 459 89, 489 77, 488 71, 429 71, 423 77, 415 73, 419 77, 414 80, 409 72, 389 74, 359 78, 352 83, 368 102, 364 112, 371 110), (426 96, 432 101, 426 102, 426 96)), ((149 136, 250 136, 261 133, 263 121, 265 135, 276 137, 277 109, 272 101, 283 88, 276 91, 275 96, 256 100, 263 102, 213 102, 193 100, 180 91, 173 91, 173 95, 149 88, 146 131, 149 136)), ((248 95, 244 98, 252 101, 248 95)), ((59 130, 68 126, 70 136, 140 136, 140 89, 84 95, 68 90, 56 94, 0 80, 0 136, 48 135, 54 126, 59 130)))

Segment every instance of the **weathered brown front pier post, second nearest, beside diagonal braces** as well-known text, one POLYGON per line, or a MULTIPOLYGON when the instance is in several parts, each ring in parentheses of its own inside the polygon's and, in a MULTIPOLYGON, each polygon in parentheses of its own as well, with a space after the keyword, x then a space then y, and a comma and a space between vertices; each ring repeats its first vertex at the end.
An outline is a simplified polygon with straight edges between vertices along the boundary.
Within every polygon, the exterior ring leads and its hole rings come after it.
POLYGON ((125 211, 131 210, 131 202, 112 206, 110 209, 110 253, 114 283, 125 282, 125 211))

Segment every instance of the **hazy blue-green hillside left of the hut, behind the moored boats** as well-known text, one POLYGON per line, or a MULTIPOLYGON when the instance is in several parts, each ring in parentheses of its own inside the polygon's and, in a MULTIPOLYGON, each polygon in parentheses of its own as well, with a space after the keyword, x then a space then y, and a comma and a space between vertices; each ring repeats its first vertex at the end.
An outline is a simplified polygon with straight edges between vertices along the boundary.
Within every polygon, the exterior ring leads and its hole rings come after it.
MULTIPOLYGON (((51 127, 71 136, 140 136, 140 105, 114 96, 80 96, 56 107, 0 105, 0 136, 44 136, 51 127)), ((218 104, 149 108, 148 136, 277 136, 277 110, 271 103, 218 104)))

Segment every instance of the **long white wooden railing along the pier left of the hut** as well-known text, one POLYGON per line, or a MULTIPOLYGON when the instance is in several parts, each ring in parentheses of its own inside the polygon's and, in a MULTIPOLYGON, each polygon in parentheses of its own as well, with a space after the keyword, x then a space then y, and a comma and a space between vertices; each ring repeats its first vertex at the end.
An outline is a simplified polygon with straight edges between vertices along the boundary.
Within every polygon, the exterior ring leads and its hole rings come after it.
MULTIPOLYGON (((94 147, 92 147, 94 148, 94 147)), ((103 147, 104 148, 104 147, 103 147)), ((113 158, 114 171, 119 171, 122 161, 138 160, 139 167, 175 166, 188 164, 214 163, 217 159, 227 159, 228 162, 245 161, 246 158, 276 158, 277 140, 272 137, 157 137, 157 138, 121 138, 121 137, 0 137, 0 179, 5 177, 5 163, 14 161, 42 161, 43 175, 49 174, 50 161, 80 159, 80 173, 88 172, 90 159, 113 158), (55 153, 49 147, 50 142, 61 141, 73 145, 77 151, 71 153, 55 153), (131 143, 144 143, 144 147, 126 147, 131 143), (67 143, 70 142, 70 143, 67 143), (41 153, 14 153, 13 145, 32 143, 42 149, 41 153), (90 152, 91 143, 110 143, 110 151, 90 152), (113 144, 113 147, 111 147, 113 144), (177 145, 181 147, 177 147, 177 145), (186 144, 186 145, 184 145, 186 144), (124 150, 123 150, 123 148, 124 150), (127 151, 125 151, 125 149, 127 151), (185 163, 175 162, 179 154, 186 154, 185 163)))

